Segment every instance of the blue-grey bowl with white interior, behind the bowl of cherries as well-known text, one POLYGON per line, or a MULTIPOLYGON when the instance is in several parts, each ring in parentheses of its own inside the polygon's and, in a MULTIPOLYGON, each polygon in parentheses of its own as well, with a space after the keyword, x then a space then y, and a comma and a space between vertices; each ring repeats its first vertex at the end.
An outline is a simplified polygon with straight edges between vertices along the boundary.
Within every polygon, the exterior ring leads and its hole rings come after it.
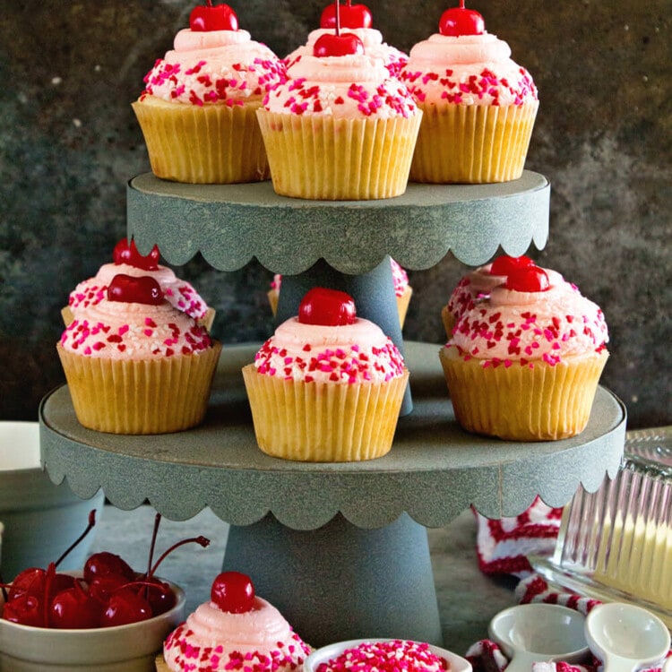
MULTIPOLYGON (((39 461, 39 423, 0 422, 0 521, 4 523, 4 581, 28 567, 47 567, 82 534, 91 509, 102 513, 105 495, 74 495, 64 481, 54 485, 39 461)), ((58 569, 81 569, 96 529, 58 569)))

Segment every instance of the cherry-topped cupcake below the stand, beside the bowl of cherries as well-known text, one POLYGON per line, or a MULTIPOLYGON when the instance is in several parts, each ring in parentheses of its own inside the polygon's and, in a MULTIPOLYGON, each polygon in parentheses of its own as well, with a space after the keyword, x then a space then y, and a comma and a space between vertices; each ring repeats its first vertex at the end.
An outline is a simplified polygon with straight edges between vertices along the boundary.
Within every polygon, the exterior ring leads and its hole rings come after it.
POLYGON ((246 574, 222 572, 210 600, 168 635, 156 665, 158 672, 292 672, 310 651, 246 574))

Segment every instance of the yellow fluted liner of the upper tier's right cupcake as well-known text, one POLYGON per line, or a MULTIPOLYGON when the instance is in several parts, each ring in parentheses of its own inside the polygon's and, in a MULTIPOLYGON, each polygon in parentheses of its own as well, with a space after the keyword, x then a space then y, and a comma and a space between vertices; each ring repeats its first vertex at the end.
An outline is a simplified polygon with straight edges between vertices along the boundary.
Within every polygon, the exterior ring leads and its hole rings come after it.
POLYGON ((412 182, 480 184, 522 175, 538 100, 524 105, 422 106, 412 182))

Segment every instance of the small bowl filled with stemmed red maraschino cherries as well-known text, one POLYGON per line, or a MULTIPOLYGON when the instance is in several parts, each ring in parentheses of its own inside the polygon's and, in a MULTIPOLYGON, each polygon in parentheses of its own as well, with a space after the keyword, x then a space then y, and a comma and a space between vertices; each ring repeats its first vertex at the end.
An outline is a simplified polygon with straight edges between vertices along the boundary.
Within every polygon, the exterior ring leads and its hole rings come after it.
MULTIPOLYGON (((157 514, 144 571, 135 571, 121 556, 101 551, 89 556, 81 572, 62 573, 58 564, 66 550, 46 568, 29 567, 13 582, 4 583, 0 669, 154 672, 164 639, 185 619, 184 591, 160 579, 156 570, 176 547, 210 543, 204 537, 186 538, 154 561, 159 520, 157 514)), ((94 524, 95 511, 80 539, 94 524)))

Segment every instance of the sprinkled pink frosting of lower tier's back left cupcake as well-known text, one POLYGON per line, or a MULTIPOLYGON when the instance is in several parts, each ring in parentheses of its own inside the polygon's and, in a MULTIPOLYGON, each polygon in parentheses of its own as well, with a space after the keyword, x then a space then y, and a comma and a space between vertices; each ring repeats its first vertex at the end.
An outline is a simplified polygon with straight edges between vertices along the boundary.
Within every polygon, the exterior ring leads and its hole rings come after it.
POLYGON ((156 280, 168 302, 193 317, 201 319, 208 310, 208 306, 194 287, 185 280, 177 278, 175 271, 168 266, 159 267, 154 271, 132 266, 128 263, 105 263, 93 278, 83 280, 70 292, 68 306, 74 315, 82 312, 89 306, 95 306, 108 296, 108 286, 111 280, 119 273, 140 277, 149 275, 156 280))

